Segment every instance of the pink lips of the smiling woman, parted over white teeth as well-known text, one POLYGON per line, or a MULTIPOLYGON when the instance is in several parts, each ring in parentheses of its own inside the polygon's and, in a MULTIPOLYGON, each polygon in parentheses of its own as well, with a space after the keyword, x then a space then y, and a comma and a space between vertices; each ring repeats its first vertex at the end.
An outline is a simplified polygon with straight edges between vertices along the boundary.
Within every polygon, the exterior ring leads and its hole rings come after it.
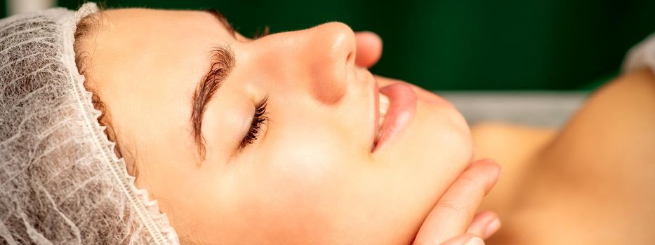
MULTIPOLYGON (((405 83, 394 83, 381 87, 379 92, 389 98, 389 109, 379 132, 380 137, 377 141, 373 141, 371 152, 375 152, 402 132, 416 113, 416 102, 418 100, 416 92, 414 92, 410 85, 405 83)), ((376 134, 378 133, 378 119, 380 118, 378 97, 379 94, 376 93, 376 120, 374 128, 376 134)), ((376 137, 376 134, 373 137, 376 137)))

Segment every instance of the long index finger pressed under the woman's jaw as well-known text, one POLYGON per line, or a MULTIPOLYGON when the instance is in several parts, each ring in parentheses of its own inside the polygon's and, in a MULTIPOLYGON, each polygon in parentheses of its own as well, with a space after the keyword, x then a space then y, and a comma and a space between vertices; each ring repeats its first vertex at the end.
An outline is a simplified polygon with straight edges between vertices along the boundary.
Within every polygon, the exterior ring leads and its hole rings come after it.
POLYGON ((494 186, 501 167, 493 160, 473 162, 446 190, 418 230, 418 244, 439 244, 463 234, 494 186))

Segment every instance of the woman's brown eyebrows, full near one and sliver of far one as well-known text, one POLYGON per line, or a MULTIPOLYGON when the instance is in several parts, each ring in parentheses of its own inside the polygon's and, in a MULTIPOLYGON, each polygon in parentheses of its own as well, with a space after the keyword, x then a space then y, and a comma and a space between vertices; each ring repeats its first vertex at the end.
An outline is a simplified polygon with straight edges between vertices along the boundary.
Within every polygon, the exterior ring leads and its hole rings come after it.
MULTIPOLYGON (((213 10, 216 13, 218 11, 213 10)), ((216 15, 215 15, 216 16, 216 15)), ((219 16, 223 19, 219 20, 225 25, 227 20, 223 21, 225 17, 219 13, 219 16)), ((218 18, 218 16, 217 16, 218 18)), ((232 27, 227 24, 228 29, 232 30, 232 27)), ((207 104, 213 97, 213 94, 220 88, 223 84, 223 80, 227 78, 234 68, 234 52, 230 50, 225 45, 218 45, 214 47, 211 52, 209 52, 209 71, 202 76, 197 87, 195 88, 192 95, 192 111, 191 111, 191 123, 192 123, 192 134, 194 141, 198 148, 199 155, 201 156, 201 162, 204 160, 206 148, 205 140, 202 136, 202 118, 205 110, 207 109, 207 104)))

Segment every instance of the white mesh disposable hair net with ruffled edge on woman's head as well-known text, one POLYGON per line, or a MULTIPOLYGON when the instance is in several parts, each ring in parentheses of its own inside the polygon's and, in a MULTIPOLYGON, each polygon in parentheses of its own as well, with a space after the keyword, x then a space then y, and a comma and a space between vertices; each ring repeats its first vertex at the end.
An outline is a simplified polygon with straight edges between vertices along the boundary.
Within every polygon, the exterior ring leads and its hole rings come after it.
POLYGON ((0 244, 179 244, 114 154, 75 65, 77 22, 95 11, 0 20, 0 244))

